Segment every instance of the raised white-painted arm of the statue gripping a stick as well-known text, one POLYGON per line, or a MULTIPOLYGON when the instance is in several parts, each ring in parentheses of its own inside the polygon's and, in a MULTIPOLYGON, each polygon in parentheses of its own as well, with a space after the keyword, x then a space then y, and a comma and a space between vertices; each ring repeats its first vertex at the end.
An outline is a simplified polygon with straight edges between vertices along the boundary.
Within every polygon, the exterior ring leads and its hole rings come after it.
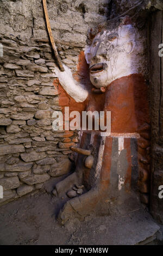
POLYGON ((55 68, 53 72, 59 78, 62 88, 70 95, 76 102, 84 102, 88 96, 86 88, 76 80, 74 80, 71 70, 64 65, 64 72, 55 68))

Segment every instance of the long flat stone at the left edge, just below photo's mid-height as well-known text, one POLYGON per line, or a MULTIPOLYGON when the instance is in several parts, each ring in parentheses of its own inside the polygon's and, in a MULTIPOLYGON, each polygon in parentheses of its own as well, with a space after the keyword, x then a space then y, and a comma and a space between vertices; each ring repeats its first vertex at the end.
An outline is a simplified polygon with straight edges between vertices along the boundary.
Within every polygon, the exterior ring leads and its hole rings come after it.
POLYGON ((0 147, 0 155, 8 155, 24 152, 23 145, 1 145, 0 147))

